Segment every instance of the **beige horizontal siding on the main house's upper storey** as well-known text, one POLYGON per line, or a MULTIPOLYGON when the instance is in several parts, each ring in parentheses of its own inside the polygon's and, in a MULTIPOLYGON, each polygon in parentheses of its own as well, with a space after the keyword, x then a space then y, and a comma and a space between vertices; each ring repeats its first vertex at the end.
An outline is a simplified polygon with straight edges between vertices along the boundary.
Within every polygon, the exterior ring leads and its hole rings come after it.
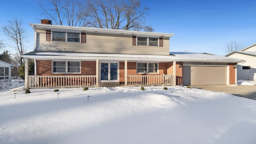
POLYGON ((163 47, 132 46, 132 36, 86 33, 86 43, 46 42, 46 31, 37 30, 36 50, 92 52, 114 54, 169 55, 169 38, 163 38, 163 47))

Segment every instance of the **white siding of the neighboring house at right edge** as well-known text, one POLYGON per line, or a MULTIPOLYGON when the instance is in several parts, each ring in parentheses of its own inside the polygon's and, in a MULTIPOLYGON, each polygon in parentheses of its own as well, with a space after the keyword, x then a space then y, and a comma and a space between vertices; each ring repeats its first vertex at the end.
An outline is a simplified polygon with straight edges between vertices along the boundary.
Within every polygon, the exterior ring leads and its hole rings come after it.
POLYGON ((255 56, 248 56, 245 54, 234 53, 228 57, 246 60, 246 62, 244 63, 238 63, 238 66, 237 66, 238 80, 256 80, 256 57, 255 56), (251 69, 242 70, 242 66, 251 66, 251 69))

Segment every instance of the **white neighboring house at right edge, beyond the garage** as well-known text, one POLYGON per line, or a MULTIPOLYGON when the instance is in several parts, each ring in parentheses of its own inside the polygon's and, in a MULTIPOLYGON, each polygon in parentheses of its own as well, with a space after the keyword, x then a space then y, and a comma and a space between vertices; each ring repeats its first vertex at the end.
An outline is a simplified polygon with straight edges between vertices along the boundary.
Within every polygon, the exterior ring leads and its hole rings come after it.
POLYGON ((226 56, 246 60, 237 65, 238 80, 256 80, 256 43, 226 56))

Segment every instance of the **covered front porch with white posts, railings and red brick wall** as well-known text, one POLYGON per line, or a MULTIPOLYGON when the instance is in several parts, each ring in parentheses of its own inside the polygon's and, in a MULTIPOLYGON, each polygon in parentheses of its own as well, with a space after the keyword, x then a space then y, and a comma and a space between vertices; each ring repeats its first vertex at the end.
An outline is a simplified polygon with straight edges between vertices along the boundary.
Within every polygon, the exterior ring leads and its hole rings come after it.
MULTIPOLYGON (((52 56, 52 53, 51 56, 48 54, 45 56, 45 54, 44 56, 24 57, 25 88, 176 85, 176 61, 170 62, 170 56, 154 56, 153 58, 150 56, 138 58, 137 55, 121 54, 115 56, 97 54, 94 57, 81 56, 79 58, 76 56, 76 60, 80 61, 80 73, 57 74, 52 72, 52 61, 55 59, 73 60, 74 56, 60 56, 60 54, 52 56), (35 62, 35 75, 33 76, 28 75, 30 58, 35 62), (145 72, 150 71, 149 68, 144 68, 144 72, 138 72, 138 63, 148 66, 151 62, 157 66, 155 73, 145 72)), ((143 68, 140 69, 143 70, 143 68)))

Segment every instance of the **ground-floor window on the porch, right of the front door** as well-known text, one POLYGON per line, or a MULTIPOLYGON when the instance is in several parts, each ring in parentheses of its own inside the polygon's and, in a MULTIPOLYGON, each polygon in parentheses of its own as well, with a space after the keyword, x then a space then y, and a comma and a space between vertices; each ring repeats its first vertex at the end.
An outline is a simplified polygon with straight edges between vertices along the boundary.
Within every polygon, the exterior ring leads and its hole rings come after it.
POLYGON ((158 63, 138 62, 137 73, 158 73, 158 63))

